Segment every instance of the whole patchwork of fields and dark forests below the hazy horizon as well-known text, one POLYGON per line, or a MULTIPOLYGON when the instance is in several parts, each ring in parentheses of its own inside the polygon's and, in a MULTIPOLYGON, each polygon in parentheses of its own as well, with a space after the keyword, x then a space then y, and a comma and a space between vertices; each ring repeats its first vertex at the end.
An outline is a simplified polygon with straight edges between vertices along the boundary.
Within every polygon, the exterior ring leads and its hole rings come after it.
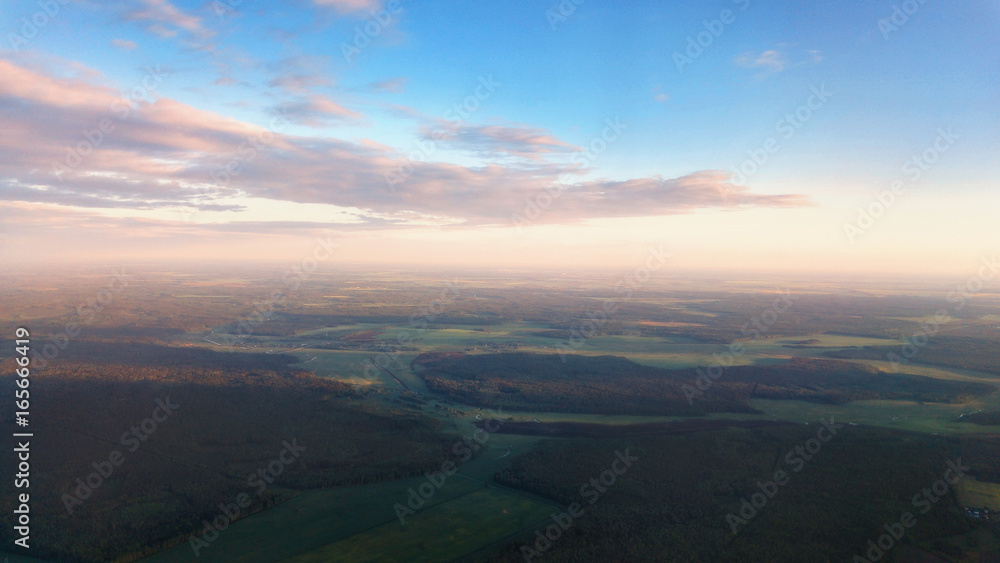
MULTIPOLYGON (((846 554, 834 544, 863 545, 875 520, 900 507, 893 495, 908 502, 907 488, 933 482, 947 455, 973 460, 959 502, 992 503, 1000 482, 1000 426, 991 418, 1000 412, 1000 379, 980 369, 988 354, 947 358, 1000 343, 1000 331, 989 328, 1000 314, 994 294, 947 319, 947 334, 963 340, 928 347, 927 361, 921 349, 896 364, 890 351, 939 307, 933 287, 845 297, 816 283, 681 278, 615 300, 606 282, 586 277, 456 282, 341 272, 317 275, 264 315, 245 305, 262 294, 259 284, 238 272, 221 276, 224 283, 212 279, 144 273, 136 291, 116 296, 91 322, 72 304, 100 288, 99 277, 91 285, 52 282, 57 301, 27 279, 4 289, 19 296, 10 301, 17 305, 8 326, 28 324, 46 338, 82 321, 79 336, 40 358, 48 365, 37 376, 50 405, 51 443, 65 457, 40 456, 38 483, 51 491, 39 497, 38 534, 50 546, 43 557, 193 560, 192 541, 211 536, 206 522, 220 504, 246 493, 255 502, 197 559, 372 561, 421 553, 504 561, 519 557, 518 546, 550 525, 573 500, 569 491, 589 478, 560 467, 582 460, 600 474, 608 454, 623 447, 657 461, 623 477, 620 490, 588 510, 547 559, 612 549, 599 531, 626 513, 641 545, 613 549, 637 556, 682 553, 682 536, 699 553, 784 553, 775 547, 787 535, 778 520, 801 519, 816 495, 831 517, 847 517, 843 503, 868 514, 851 516, 849 541, 802 531, 816 549, 846 554), (616 313, 595 321, 593 312, 609 301, 616 313), (148 416, 137 405, 164 395, 183 412, 108 478, 81 518, 66 514, 62 492, 108 455, 121 428, 148 416), (95 405, 104 414, 73 432, 71 421, 87 419, 95 405), (782 448, 823 421, 843 425, 846 436, 824 453, 831 473, 805 469, 789 489, 793 500, 776 500, 774 512, 748 528, 747 538, 756 539, 726 539, 725 517, 740 497, 724 489, 752 485, 780 461, 774 456, 782 448), (257 495, 248 476, 292 439, 307 448, 301 462, 257 495), (772 457, 754 458, 756 447, 772 457), (851 479, 825 488, 835 468, 846 471, 879 448, 908 460, 890 472, 897 481, 884 494, 866 498, 868 489, 851 479), (933 455, 918 463, 921 452, 933 455), (730 469, 701 483, 670 456, 730 469), (732 462, 741 456, 750 457, 732 462), (427 489, 428 475, 445 469, 429 498, 397 511, 421 485, 427 489), (678 499, 684 488, 702 492, 678 499), (664 511, 660 501, 681 508, 664 511), (152 514, 160 519, 139 526, 120 516, 152 514), (690 518, 700 527, 686 528, 690 518), (76 532, 62 533, 69 529, 76 532), (86 534, 101 539, 81 541, 86 534)), ((907 549, 948 560, 951 548, 941 546, 979 538, 986 553, 1000 538, 991 523, 949 510, 934 512, 907 549)))

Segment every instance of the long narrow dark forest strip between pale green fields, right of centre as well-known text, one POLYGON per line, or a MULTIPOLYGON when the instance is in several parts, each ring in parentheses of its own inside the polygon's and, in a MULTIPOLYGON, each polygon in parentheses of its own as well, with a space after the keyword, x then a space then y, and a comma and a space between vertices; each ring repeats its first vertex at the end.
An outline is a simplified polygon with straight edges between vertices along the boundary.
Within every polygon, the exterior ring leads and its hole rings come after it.
POLYGON ((414 371, 435 393, 482 407, 523 411, 696 416, 757 412, 751 398, 816 403, 857 400, 964 402, 992 385, 885 373, 834 360, 792 358, 780 364, 667 370, 614 356, 501 353, 423 354, 414 371), (704 392, 698 381, 709 382, 704 392), (697 389, 696 395, 690 395, 697 389), (694 400, 694 399, 697 400, 694 400))

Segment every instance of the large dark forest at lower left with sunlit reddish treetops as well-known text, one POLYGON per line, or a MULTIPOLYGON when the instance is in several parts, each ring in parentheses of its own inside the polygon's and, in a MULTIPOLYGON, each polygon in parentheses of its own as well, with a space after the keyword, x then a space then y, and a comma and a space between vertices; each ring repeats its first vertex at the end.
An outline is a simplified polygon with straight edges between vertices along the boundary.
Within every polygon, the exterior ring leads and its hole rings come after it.
MULTIPOLYGON (((148 555, 200 533, 202 521, 240 493, 254 500, 242 515, 249 516, 303 490, 418 475, 450 451, 440 421, 381 407, 343 383, 288 368, 288 356, 78 344, 31 385, 39 397, 32 413, 36 467, 58 468, 32 477, 34 553, 43 557, 103 562, 148 555), (98 363, 98 352, 110 361, 98 363), (153 432, 140 432, 140 444, 130 429, 152 416, 157 400, 178 407, 153 432), (305 448, 301 458, 257 494, 259 481, 248 479, 293 440, 305 448), (82 504, 67 503, 65 495, 79 498, 77 479, 115 451, 121 466, 82 504)), ((4 373, 13 365, 0 363, 4 373)), ((3 382, 0 401, 12 402, 10 376, 3 382)), ((0 487, 6 540, 13 481, 0 487)))

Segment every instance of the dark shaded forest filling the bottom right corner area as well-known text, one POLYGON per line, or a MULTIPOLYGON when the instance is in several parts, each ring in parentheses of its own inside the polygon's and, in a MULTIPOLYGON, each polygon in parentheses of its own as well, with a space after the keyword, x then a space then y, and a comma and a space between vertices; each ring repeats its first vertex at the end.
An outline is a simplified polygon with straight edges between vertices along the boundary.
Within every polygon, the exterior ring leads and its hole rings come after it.
MULTIPOLYGON (((953 494, 926 513, 923 505, 914 507, 913 497, 958 458, 972 466, 972 473, 991 476, 995 460, 973 455, 981 448, 995 452, 997 438, 959 441, 845 427, 814 457, 793 453, 796 463, 787 464, 789 453, 815 434, 813 428, 786 425, 752 432, 546 441, 498 471, 496 480, 563 506, 583 507, 584 515, 536 561, 615 561, 622 553, 635 561, 849 561, 906 511, 918 522, 900 551, 930 561, 931 554, 961 553, 940 538, 967 534, 976 526, 996 528, 956 518, 953 494), (616 452, 626 451, 638 459, 595 498, 594 486, 587 484, 612 468, 616 452), (742 500, 760 492, 760 483, 782 467, 787 484, 734 534, 727 515, 739 514, 742 500)), ((549 520, 536 529, 551 525, 549 520)), ((531 530, 489 560, 524 561, 523 548, 535 548, 537 541, 531 530)))

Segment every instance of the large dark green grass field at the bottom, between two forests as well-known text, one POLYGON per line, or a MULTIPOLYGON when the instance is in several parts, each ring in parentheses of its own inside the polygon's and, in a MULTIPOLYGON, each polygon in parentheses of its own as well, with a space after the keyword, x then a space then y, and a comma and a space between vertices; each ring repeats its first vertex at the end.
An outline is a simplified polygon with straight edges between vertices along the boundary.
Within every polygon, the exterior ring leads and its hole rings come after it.
MULTIPOLYGON (((474 415, 449 419, 457 432, 456 442, 472 435, 474 421, 474 415)), ((442 545, 435 544, 435 550, 441 548, 451 553, 449 550, 453 548, 447 545, 452 539, 460 546, 454 548, 461 551, 456 557, 478 550, 544 520, 553 510, 530 495, 484 488, 485 482, 510 456, 526 453, 539 441, 527 436, 488 436, 480 455, 462 464, 457 475, 449 477, 415 515, 406 519, 405 526, 400 525, 394 506, 407 503, 410 489, 427 482, 423 476, 305 492, 236 522, 197 558, 190 545, 184 543, 144 561, 263 563, 299 556, 303 559, 294 560, 364 561, 364 558, 342 559, 332 554, 375 553, 370 551, 372 545, 396 546, 403 542, 410 542, 405 544, 410 546, 408 549, 419 551, 419 545, 414 548, 412 542, 423 541, 431 534, 445 538, 442 545), (489 512, 494 508, 495 513, 489 512), (456 527, 457 523, 461 526, 456 527)))

